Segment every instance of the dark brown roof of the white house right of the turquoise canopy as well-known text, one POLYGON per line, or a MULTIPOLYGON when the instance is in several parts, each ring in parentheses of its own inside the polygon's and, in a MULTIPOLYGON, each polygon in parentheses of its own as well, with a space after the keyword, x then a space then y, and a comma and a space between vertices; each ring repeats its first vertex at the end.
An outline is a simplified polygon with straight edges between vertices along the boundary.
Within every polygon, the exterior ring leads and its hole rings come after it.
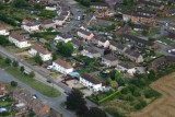
POLYGON ((95 78, 93 78, 92 75, 88 74, 88 73, 83 73, 81 75, 83 79, 90 81, 93 84, 100 84, 101 82, 98 80, 96 80, 95 78))

